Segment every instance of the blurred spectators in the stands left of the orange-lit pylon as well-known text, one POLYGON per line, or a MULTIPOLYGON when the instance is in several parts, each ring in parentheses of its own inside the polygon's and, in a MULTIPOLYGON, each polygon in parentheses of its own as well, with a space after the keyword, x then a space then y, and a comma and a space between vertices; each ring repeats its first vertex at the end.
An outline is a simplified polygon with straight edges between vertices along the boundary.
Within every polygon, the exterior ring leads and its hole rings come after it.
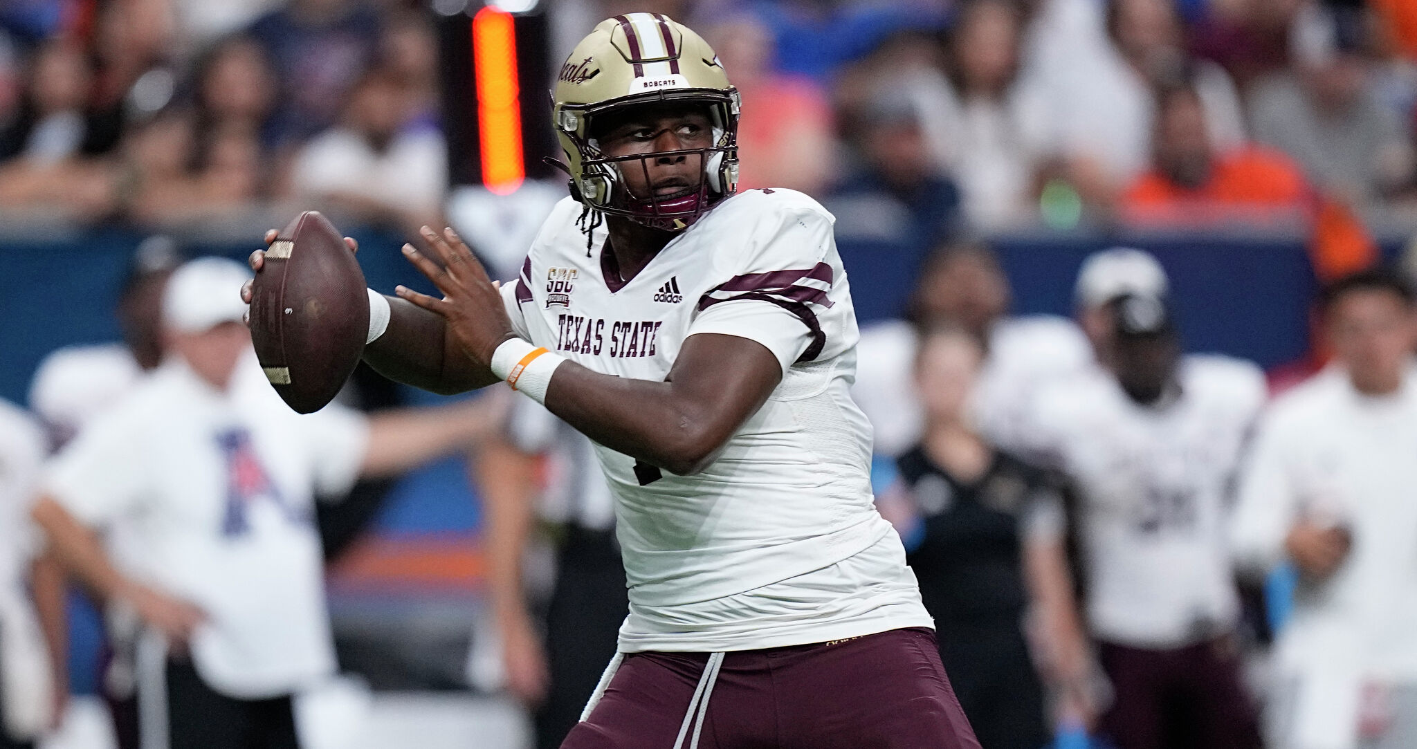
POLYGON ((417 3, 37 0, 0 10, 0 208, 231 221, 438 214, 438 47, 417 3))

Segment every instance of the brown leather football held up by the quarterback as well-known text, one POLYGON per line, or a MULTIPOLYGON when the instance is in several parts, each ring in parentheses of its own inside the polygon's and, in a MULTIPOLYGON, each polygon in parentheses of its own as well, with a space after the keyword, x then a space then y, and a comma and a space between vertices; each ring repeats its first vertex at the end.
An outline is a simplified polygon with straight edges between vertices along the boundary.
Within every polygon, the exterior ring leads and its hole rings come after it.
POLYGON ((349 379, 368 337, 364 272, 319 211, 298 215, 266 249, 251 287, 251 343, 286 405, 310 413, 349 379))

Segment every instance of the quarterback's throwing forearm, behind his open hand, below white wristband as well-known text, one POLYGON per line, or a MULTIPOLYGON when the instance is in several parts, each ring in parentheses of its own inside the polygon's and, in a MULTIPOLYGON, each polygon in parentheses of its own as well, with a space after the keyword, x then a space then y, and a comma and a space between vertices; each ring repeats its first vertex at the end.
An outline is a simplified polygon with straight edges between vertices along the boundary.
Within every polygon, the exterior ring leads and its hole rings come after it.
POLYGON ((444 395, 497 381, 490 370, 478 367, 462 353, 442 317, 398 297, 385 299, 390 306, 388 328, 364 347, 364 361, 374 371, 444 395))

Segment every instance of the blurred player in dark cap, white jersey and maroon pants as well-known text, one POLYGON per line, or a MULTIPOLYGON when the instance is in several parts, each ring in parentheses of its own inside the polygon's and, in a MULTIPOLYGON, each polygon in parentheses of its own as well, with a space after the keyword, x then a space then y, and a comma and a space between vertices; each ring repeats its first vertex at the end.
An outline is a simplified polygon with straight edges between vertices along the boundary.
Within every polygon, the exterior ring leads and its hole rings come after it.
POLYGON ((1105 365, 1039 395, 1044 443, 1078 493, 1087 619, 1114 688, 1102 733, 1118 749, 1258 748, 1226 530, 1264 375, 1182 357, 1163 297, 1105 310, 1105 365))

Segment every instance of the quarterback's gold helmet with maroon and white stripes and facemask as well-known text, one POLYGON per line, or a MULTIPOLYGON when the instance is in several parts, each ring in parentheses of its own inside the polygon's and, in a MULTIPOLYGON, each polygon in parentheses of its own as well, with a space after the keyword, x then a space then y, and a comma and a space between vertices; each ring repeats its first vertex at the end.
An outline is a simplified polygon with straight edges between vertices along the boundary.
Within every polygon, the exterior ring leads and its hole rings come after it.
POLYGON ((629 13, 601 21, 571 51, 551 93, 551 119, 571 173, 571 194, 597 211, 659 229, 690 225, 738 185, 738 89, 718 57, 689 27, 657 13, 629 13), (701 103, 713 122, 713 146, 622 157, 605 156, 591 122, 606 112, 653 102, 701 103), (657 157, 697 157, 704 176, 689 195, 656 200, 629 194, 623 168, 657 157))

